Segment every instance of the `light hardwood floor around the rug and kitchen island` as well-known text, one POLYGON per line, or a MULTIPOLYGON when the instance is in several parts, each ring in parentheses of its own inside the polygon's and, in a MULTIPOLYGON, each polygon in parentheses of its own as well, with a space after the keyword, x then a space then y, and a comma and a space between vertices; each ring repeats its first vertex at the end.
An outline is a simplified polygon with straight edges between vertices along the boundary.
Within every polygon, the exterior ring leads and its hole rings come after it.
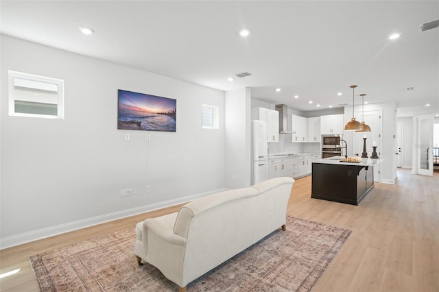
MULTIPOLYGON (((353 231, 313 292, 439 291, 439 173, 426 177, 399 169, 398 174, 394 185, 375 184, 359 206, 311 199, 311 177, 296 180, 289 215, 353 231)), ((29 267, 33 254, 134 228, 147 217, 176 212, 179 207, 2 250, 0 273, 21 271, 1 279, 0 290, 38 291, 29 267)))

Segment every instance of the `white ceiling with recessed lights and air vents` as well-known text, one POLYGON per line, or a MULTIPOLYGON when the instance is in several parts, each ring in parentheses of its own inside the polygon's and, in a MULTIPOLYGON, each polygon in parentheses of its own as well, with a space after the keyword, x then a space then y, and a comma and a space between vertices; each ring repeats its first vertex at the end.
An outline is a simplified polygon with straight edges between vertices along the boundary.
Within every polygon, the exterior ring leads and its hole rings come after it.
POLYGON ((254 99, 303 112, 352 104, 351 84, 356 104, 366 93, 370 104, 439 112, 439 29, 418 32, 439 19, 439 1, 1 0, 0 9, 2 34, 219 90, 250 87, 254 99), (241 72, 252 75, 227 80, 241 72))

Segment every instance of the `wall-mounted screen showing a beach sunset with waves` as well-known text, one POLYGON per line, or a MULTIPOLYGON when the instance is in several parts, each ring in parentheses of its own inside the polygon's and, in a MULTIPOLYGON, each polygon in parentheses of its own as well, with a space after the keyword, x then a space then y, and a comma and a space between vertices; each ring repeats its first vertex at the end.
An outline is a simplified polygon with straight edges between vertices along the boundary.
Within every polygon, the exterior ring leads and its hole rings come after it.
POLYGON ((176 99, 121 89, 117 96, 117 129, 176 132, 176 99))

